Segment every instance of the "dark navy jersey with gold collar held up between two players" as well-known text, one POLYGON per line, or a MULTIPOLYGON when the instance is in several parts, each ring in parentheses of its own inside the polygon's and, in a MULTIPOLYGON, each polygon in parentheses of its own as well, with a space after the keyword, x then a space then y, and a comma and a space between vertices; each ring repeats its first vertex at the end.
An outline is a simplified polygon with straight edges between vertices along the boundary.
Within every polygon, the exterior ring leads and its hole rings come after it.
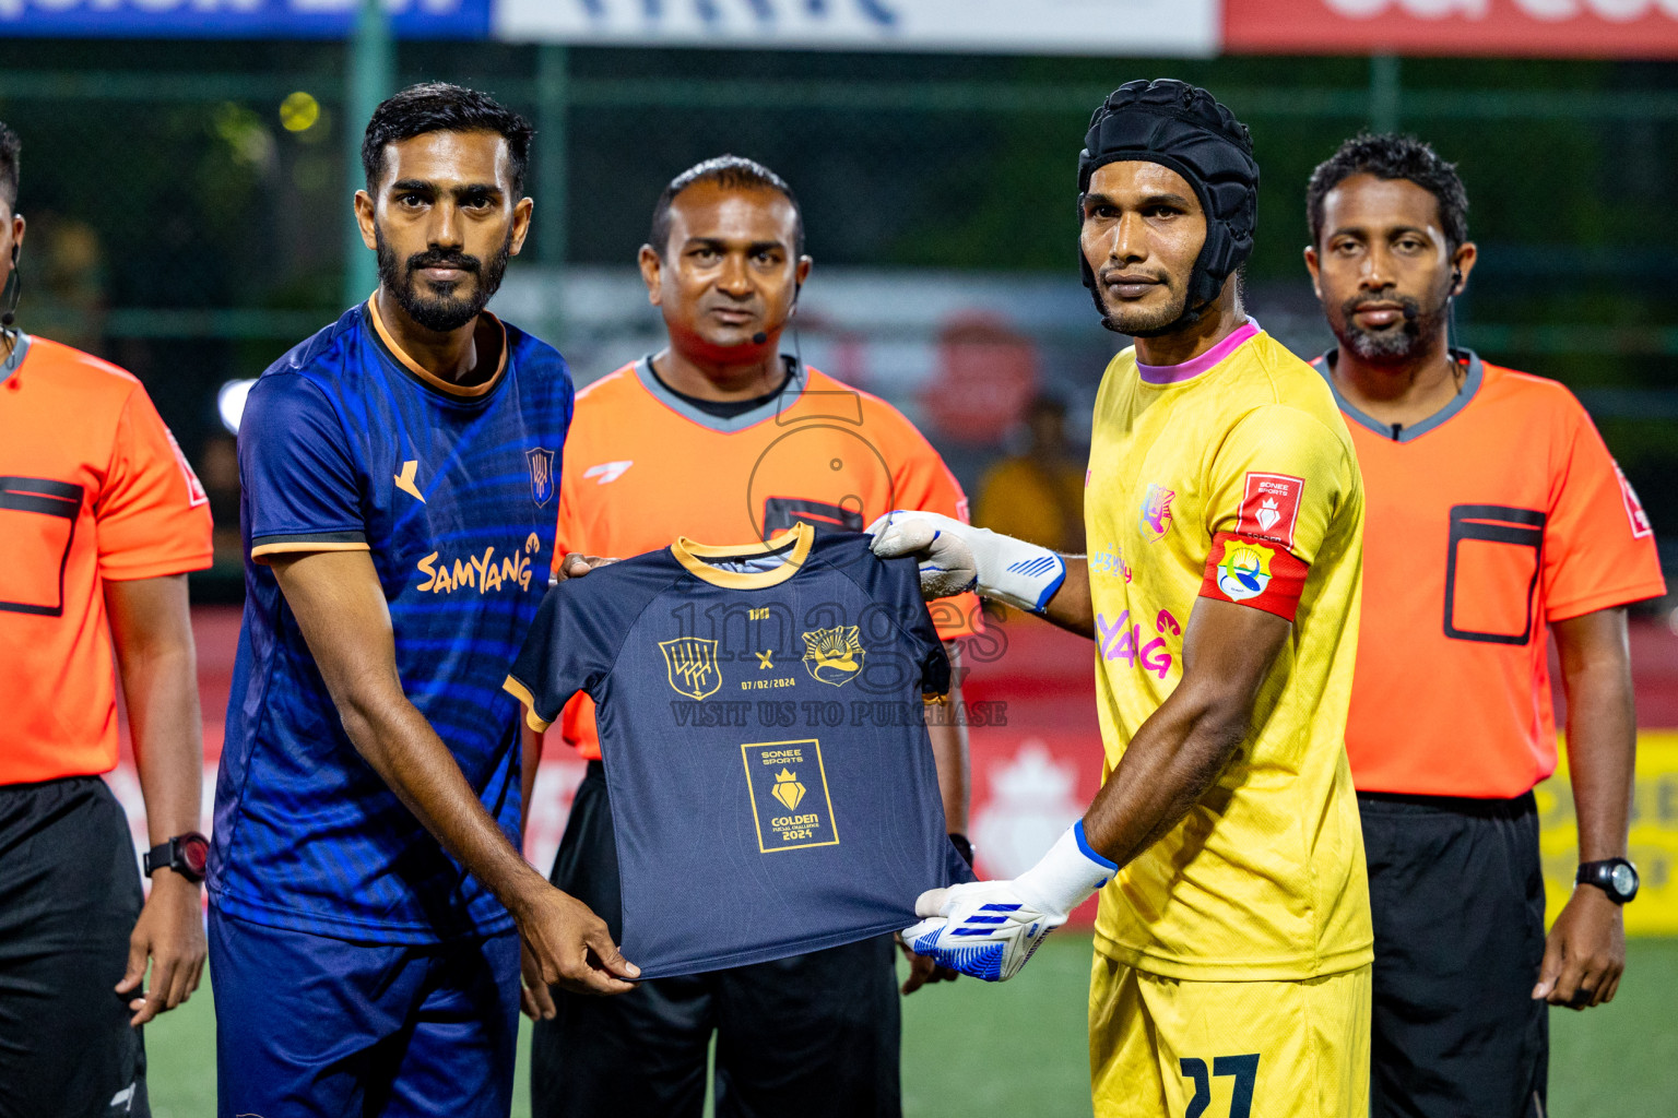
POLYGON ((898 930, 923 890, 972 880, 923 714, 948 687, 915 562, 807 523, 560 583, 507 681, 534 727, 579 691, 599 707, 644 977, 898 930))

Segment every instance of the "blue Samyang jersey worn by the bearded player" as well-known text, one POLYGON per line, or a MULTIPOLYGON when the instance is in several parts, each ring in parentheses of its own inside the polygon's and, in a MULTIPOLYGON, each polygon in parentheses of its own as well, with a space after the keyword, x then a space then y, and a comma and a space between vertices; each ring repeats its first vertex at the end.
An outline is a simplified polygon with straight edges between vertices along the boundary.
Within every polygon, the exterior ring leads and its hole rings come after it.
POLYGON ((374 305, 274 362, 238 437, 245 619, 216 779, 210 898, 302 932, 430 944, 512 917, 361 758, 268 570, 364 550, 403 691, 519 845, 519 706, 502 681, 547 590, 572 384, 547 344, 480 318, 495 375, 460 387, 374 305))

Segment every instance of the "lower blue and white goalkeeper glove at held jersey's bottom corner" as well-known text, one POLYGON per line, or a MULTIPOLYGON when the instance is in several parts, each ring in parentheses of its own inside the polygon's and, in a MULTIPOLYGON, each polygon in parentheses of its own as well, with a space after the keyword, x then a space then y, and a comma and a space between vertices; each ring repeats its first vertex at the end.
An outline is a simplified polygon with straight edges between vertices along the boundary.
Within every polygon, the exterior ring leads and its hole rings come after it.
POLYGON ((987 982, 1007 982, 1084 900, 1107 883, 1118 867, 1084 840, 1084 821, 1067 830, 1049 853, 1012 882, 973 882, 931 888, 915 902, 931 917, 904 929, 916 955, 987 982))

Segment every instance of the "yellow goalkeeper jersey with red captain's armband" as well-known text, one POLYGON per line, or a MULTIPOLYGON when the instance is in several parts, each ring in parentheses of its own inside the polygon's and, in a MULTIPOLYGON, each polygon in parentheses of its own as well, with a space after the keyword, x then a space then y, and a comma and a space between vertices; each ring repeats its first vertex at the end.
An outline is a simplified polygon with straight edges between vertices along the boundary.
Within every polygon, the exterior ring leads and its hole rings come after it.
POLYGON ((1250 320, 1185 365, 1124 350, 1096 399, 1086 484, 1102 779, 1181 679, 1198 598, 1294 624, 1223 774, 1102 890, 1097 950, 1225 982, 1371 962, 1344 743, 1364 496, 1327 384, 1250 320))

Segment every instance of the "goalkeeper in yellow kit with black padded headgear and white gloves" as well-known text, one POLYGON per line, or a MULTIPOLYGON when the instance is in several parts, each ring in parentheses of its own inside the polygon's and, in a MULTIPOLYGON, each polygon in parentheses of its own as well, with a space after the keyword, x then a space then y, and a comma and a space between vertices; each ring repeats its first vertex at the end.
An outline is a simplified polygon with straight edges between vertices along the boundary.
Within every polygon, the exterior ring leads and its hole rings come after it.
POLYGON ((1369 887, 1344 726, 1363 486, 1326 384, 1242 310, 1258 168, 1205 91, 1131 82, 1079 161, 1084 280, 1136 337, 1096 402, 1089 565, 926 513, 874 525, 921 588, 1096 640, 1106 781, 1012 882, 935 890, 915 950, 1005 979, 1102 888, 1096 1115, 1358 1118, 1369 887))

